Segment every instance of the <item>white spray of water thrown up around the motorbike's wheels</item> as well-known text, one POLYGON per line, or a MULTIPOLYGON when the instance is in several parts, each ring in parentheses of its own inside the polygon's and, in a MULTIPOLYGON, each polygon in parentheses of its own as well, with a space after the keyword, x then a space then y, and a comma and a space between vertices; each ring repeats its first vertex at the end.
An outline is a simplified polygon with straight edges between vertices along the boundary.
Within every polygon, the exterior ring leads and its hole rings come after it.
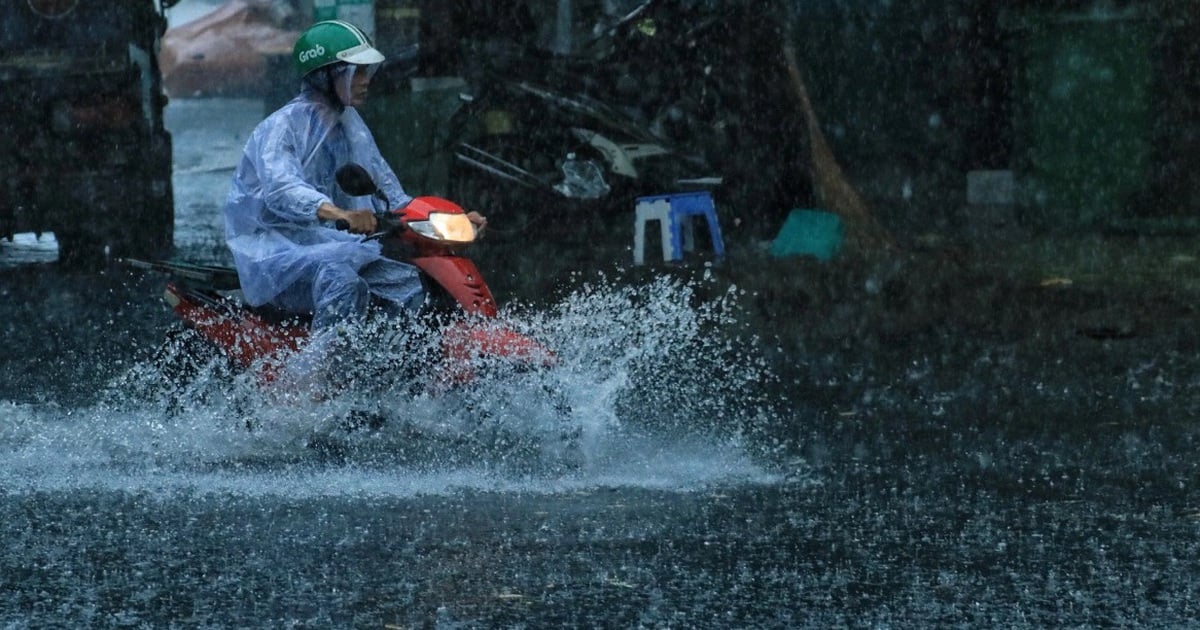
POLYGON ((420 370, 438 354, 420 324, 346 335, 355 361, 340 374, 352 385, 336 395, 263 388, 184 336, 94 407, 0 407, 0 484, 414 496, 770 481, 746 445, 746 430, 775 413, 757 386, 769 370, 731 334, 732 289, 702 300, 696 288, 600 278, 551 308, 511 306, 502 323, 557 362, 480 360, 476 380, 448 392, 420 370))

